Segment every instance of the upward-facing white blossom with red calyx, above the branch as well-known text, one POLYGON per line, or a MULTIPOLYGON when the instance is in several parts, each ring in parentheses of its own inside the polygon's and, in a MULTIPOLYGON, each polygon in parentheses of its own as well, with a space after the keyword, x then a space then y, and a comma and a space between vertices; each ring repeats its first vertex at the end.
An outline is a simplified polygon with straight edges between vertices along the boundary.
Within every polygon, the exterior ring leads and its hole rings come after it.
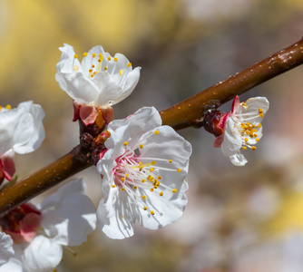
MULTIPOLYGON (((83 53, 80 63, 73 46, 64 44, 59 49, 62 55, 56 65, 55 79, 74 100, 73 121, 80 118, 86 125, 93 123, 99 108, 104 110, 121 102, 139 81, 141 67, 132 69, 132 63, 122 53, 112 57, 97 45, 83 53)), ((109 122, 113 118, 107 119, 109 122)))

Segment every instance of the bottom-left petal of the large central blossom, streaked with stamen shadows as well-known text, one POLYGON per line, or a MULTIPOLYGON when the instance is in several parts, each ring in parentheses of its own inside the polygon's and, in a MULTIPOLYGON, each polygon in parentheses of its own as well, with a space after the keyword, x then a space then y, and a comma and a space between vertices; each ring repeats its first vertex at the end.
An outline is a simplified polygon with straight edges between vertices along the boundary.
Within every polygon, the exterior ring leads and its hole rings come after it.
POLYGON ((99 227, 108 238, 122 239, 133 235, 136 207, 125 192, 111 189, 106 202, 102 199, 97 208, 99 227))

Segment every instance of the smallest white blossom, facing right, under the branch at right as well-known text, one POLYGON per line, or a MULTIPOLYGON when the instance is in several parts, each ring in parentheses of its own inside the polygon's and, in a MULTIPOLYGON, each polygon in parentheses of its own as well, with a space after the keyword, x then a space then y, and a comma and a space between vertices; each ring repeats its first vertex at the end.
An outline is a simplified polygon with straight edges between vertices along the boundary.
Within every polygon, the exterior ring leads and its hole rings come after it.
POLYGON ((262 137, 261 121, 268 110, 269 101, 265 97, 239 102, 239 96, 236 96, 231 112, 221 117, 220 127, 224 132, 216 138, 214 146, 220 147, 234 165, 245 165, 248 160, 240 149, 257 149, 255 145, 262 137))

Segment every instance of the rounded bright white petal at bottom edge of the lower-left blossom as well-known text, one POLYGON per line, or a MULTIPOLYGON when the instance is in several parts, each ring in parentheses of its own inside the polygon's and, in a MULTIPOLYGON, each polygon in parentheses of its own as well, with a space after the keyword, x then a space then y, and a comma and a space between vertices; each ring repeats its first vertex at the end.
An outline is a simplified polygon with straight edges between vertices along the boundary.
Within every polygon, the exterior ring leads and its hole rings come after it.
POLYGON ((46 272, 57 267, 62 256, 63 249, 59 244, 40 235, 24 249, 24 267, 28 272, 46 272))

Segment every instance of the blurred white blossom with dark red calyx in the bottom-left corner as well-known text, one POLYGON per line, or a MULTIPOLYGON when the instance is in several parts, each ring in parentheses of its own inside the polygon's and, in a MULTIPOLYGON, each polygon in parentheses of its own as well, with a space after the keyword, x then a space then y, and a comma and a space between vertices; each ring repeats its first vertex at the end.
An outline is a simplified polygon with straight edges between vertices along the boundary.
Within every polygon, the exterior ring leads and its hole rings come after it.
MULTIPOLYGON (((60 263, 63 247, 85 242, 95 228, 96 216, 92 200, 83 191, 83 180, 73 180, 36 209, 26 203, 0 219, 0 227, 13 238, 15 250, 8 262, 2 262, 0 272, 50 271, 60 263)), ((0 243, 4 243, 2 237, 0 243)), ((6 240, 6 248, 9 245, 6 240)), ((2 253, 1 250, 5 249, 0 249, 2 253)), ((3 257, 0 265, 2 260, 3 257)))

